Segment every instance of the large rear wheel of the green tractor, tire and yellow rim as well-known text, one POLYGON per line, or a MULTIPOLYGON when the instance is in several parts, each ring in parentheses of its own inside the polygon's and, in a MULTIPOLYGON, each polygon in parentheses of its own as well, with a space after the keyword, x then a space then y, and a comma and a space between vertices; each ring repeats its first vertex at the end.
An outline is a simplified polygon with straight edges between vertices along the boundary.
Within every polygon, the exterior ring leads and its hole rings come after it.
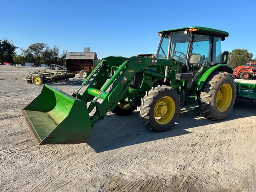
POLYGON ((199 112, 207 119, 222 120, 230 114, 235 99, 234 77, 227 72, 214 72, 198 94, 199 112))

